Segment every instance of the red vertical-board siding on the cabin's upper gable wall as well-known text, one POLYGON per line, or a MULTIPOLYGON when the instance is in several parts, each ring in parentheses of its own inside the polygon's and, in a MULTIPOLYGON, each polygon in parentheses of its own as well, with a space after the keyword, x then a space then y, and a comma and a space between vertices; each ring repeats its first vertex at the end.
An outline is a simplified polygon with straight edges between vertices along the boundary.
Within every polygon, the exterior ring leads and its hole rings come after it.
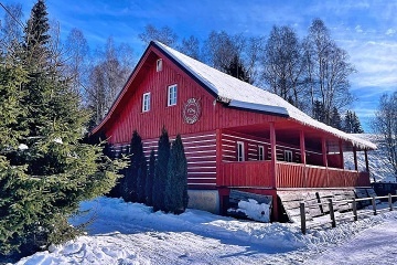
POLYGON ((170 135, 185 135, 281 119, 225 107, 155 47, 151 47, 143 66, 140 68, 141 73, 136 74, 139 78, 129 83, 129 91, 118 110, 103 128, 106 136, 110 137, 110 144, 129 141, 135 129, 142 139, 151 139, 160 134, 162 126, 167 127, 170 135), (163 59, 163 70, 157 72, 155 60, 159 57, 163 59), (178 99, 175 106, 169 107, 168 86, 173 84, 178 85, 178 99), (148 92, 151 93, 151 107, 149 112, 142 113, 142 95, 148 92), (200 99, 202 114, 197 123, 189 125, 183 121, 182 109, 184 103, 192 97, 200 99))

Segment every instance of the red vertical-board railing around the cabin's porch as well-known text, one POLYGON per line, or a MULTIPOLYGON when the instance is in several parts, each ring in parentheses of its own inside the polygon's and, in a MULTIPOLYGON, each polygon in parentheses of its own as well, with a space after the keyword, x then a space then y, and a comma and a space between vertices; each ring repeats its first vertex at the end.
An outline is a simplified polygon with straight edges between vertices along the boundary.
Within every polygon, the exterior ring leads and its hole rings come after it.
POLYGON ((222 162, 218 186, 261 188, 368 187, 369 174, 354 170, 277 162, 276 181, 271 161, 222 162), (276 187, 275 187, 276 186, 276 187))

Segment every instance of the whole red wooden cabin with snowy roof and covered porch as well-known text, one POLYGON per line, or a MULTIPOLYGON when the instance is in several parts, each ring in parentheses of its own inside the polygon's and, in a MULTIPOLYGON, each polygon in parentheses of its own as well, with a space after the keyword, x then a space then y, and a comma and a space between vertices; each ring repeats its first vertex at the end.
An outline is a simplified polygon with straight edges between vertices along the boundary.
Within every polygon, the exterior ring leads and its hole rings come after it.
MULTIPOLYGON (((147 157, 162 126, 181 134, 190 204, 223 212, 230 190, 273 197, 282 190, 369 187, 357 153, 376 146, 319 123, 279 96, 226 75, 162 43, 151 42, 106 118, 115 151, 136 129, 147 157), (344 169, 353 152, 355 169, 344 169)), ((368 163, 367 163, 368 165, 368 163)))

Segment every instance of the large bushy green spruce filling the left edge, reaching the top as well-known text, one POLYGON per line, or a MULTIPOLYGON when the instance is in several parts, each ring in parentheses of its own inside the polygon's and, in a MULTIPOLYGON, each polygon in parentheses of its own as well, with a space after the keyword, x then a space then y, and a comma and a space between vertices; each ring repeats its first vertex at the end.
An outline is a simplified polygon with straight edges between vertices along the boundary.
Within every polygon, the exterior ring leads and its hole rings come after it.
MULTIPOLYGON (((30 21, 45 17, 39 0, 30 21)), ((46 28, 29 29, 40 34, 26 33, 25 44, 45 50, 46 28)), ((67 76, 51 61, 33 65, 36 55, 19 49, 13 62, 0 56, 0 258, 73 239, 78 230, 67 219, 78 203, 108 192, 118 177, 117 161, 82 141, 87 114, 67 76)))

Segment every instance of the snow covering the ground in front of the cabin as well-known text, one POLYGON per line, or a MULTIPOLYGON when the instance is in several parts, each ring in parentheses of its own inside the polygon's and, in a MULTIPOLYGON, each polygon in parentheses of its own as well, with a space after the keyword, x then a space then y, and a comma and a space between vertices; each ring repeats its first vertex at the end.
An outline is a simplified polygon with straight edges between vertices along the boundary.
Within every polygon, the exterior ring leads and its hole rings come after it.
POLYGON ((95 218, 88 234, 17 264, 382 264, 397 254, 397 211, 336 229, 238 221, 189 209, 153 213, 139 203, 98 198, 83 202, 95 218))

